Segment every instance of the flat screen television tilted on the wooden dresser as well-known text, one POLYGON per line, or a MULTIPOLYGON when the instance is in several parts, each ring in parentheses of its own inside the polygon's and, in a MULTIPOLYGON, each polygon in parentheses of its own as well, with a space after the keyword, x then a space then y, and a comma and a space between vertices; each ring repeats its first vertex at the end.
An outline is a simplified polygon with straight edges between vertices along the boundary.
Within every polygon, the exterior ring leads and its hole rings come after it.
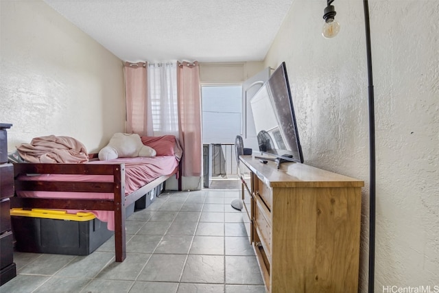
POLYGON ((250 106, 259 151, 272 155, 268 158, 278 161, 278 167, 283 161, 303 163, 285 62, 282 62, 252 97, 250 106))

